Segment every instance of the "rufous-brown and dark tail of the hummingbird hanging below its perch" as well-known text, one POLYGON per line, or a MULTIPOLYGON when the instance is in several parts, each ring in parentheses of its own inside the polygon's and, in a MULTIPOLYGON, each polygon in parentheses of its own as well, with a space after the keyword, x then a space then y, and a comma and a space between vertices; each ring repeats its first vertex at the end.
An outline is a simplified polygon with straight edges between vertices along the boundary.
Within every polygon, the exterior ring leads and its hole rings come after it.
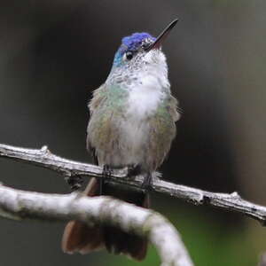
MULTIPOLYGON (((92 178, 84 193, 90 197, 98 196, 99 181, 96 178, 92 178)), ((148 196, 142 192, 129 192, 126 189, 121 190, 105 184, 103 193, 136 204, 137 206, 149 207, 148 196)), ((74 252, 87 254, 105 246, 111 253, 128 254, 140 261, 145 258, 147 240, 121 231, 121 229, 114 226, 93 225, 89 227, 87 224, 79 221, 70 221, 66 224, 62 238, 62 249, 64 252, 69 254, 74 252)))

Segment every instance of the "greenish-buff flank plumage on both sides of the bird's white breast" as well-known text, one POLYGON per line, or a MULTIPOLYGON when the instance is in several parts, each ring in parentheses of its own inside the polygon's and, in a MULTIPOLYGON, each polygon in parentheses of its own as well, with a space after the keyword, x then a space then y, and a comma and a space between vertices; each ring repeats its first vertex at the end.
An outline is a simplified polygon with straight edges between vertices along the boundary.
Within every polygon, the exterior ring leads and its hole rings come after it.
MULTIPOLYGON (((90 101, 90 123, 88 126, 88 148, 95 149, 100 165, 112 162, 114 167, 124 167, 124 157, 130 153, 133 147, 124 143, 126 132, 121 128, 123 123, 131 123, 132 119, 127 114, 129 91, 123 90, 119 86, 112 86, 108 89, 102 85, 94 91, 90 101)), ((179 114, 176 111, 176 99, 169 93, 157 109, 147 115, 145 120, 140 123, 147 129, 143 136, 143 145, 139 151, 138 164, 149 171, 154 171, 160 166, 167 155, 171 142, 176 136, 176 125, 179 114)), ((137 154, 136 154, 137 156, 137 154)), ((134 164, 132 161, 128 164, 134 164)))

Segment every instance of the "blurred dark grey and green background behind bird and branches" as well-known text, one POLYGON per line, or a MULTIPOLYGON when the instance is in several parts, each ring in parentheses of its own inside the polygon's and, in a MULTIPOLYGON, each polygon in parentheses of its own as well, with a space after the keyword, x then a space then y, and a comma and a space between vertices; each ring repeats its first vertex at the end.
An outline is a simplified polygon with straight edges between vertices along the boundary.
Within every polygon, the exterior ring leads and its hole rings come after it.
MULTIPOLYGON (((266 205, 266 4, 250 0, 1 1, 0 143, 90 162, 85 150, 91 91, 105 82, 121 37, 158 35, 183 109, 163 177, 266 205)), ((0 160, 1 182, 69 192, 49 170, 0 160)), ((153 195, 196 265, 255 265, 266 230, 241 215, 153 195)), ((0 265, 137 265, 106 252, 67 255, 63 223, 0 220, 0 265)), ((142 265, 156 265, 151 249, 142 265)))

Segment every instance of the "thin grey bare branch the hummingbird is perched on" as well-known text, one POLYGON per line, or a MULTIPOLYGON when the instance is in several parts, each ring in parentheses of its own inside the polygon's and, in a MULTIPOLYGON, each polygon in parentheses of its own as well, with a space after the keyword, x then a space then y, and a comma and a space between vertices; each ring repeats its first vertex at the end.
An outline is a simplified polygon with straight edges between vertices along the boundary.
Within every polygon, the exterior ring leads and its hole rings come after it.
MULTIPOLYGON (((41 150, 33 150, 13 147, 11 145, 0 145, 0 157, 24 161, 43 168, 50 168, 66 176, 104 177, 102 176, 102 168, 74 160, 63 159, 52 154, 46 146, 41 150)), ((129 179, 127 178, 127 169, 121 169, 113 171, 113 175, 108 177, 107 182, 117 185, 127 184, 131 187, 139 188, 143 183, 143 176, 137 176, 134 180, 129 179)), ((195 205, 209 205, 248 215, 260 221, 263 225, 266 223, 266 207, 243 200, 237 192, 231 194, 206 192, 180 184, 165 182, 158 178, 153 178, 153 190, 195 205)))

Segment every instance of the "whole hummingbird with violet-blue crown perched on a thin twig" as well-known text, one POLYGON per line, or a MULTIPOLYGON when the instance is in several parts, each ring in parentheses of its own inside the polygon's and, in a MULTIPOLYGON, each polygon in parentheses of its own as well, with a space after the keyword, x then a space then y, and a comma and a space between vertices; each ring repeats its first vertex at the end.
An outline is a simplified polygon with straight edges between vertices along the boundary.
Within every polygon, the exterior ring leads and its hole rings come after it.
MULTIPOLYGON (((142 190, 114 186, 91 178, 86 196, 109 195, 149 207, 153 173, 160 167, 176 137, 177 100, 171 95, 168 65, 161 44, 175 27, 172 21, 155 38, 148 33, 123 37, 106 82, 93 92, 87 149, 107 175, 128 168, 130 176, 145 176, 142 190)), ((114 254, 143 260, 147 239, 108 225, 70 221, 62 239, 66 253, 87 254, 106 247, 114 254)))

